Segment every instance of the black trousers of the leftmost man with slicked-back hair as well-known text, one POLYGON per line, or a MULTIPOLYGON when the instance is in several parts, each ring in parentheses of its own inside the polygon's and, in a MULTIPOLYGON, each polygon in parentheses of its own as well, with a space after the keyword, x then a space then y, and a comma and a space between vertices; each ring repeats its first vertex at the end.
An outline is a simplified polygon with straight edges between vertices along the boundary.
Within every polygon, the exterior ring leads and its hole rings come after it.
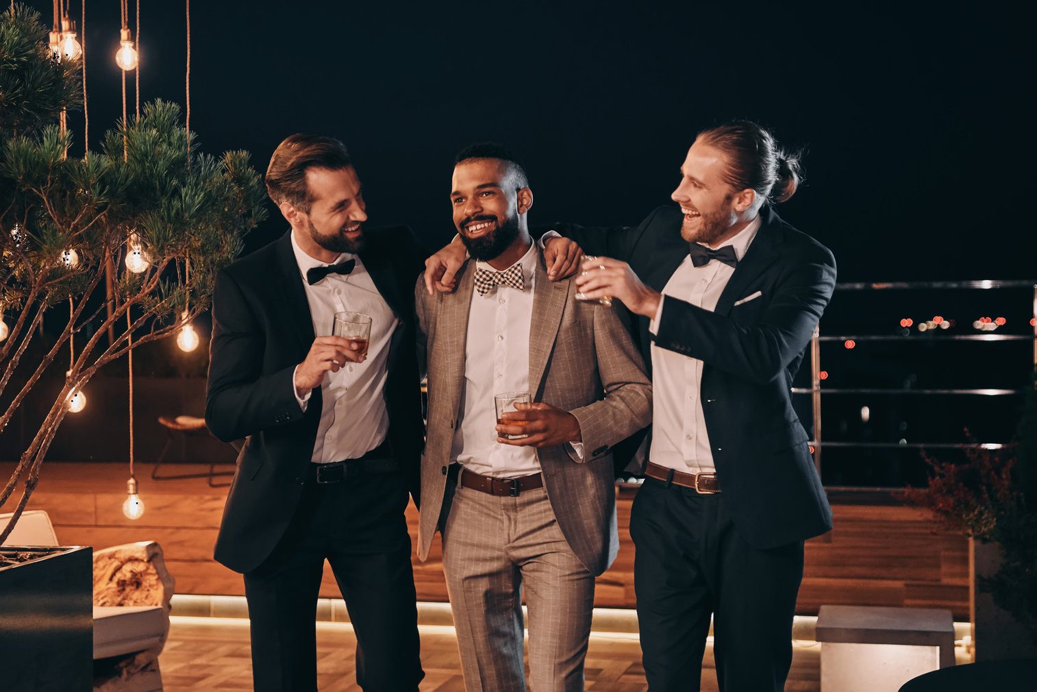
POLYGON ((415 692, 424 676, 411 569, 409 499, 396 473, 307 483, 284 537, 245 575, 256 692, 315 692, 316 605, 324 562, 357 636, 365 692, 415 692))

